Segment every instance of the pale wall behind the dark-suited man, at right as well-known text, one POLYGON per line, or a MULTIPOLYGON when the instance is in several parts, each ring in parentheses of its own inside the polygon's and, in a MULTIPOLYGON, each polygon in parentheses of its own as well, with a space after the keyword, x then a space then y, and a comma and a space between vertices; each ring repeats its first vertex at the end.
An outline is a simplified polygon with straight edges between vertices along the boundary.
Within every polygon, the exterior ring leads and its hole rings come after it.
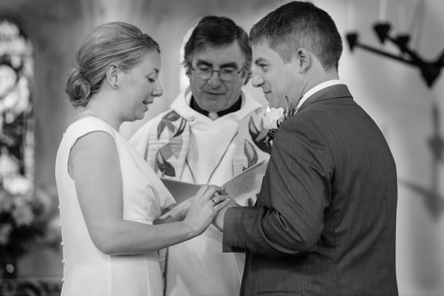
MULTIPOLYGON (((380 1, 352 2, 354 27, 360 42, 397 54, 399 51, 390 43, 381 45, 372 29, 378 20, 380 1)), ((398 13, 405 9, 409 27, 418 2, 388 1, 392 36, 399 30, 398 13), (402 5, 405 8, 400 8, 402 5)), ((340 32, 350 29, 347 21, 350 1, 315 3, 331 14, 340 32)), ((422 30, 419 35, 412 34, 410 47, 427 61, 434 61, 444 50, 444 1, 424 1, 424 8, 422 20, 417 20, 422 22, 422 30)), ((340 63, 340 78, 383 130, 397 164, 400 295, 444 295, 443 159, 434 159, 428 144, 434 133, 433 106, 439 111, 439 136, 443 140, 444 78, 441 75, 428 88, 418 68, 359 48, 351 53, 347 43, 340 63)))

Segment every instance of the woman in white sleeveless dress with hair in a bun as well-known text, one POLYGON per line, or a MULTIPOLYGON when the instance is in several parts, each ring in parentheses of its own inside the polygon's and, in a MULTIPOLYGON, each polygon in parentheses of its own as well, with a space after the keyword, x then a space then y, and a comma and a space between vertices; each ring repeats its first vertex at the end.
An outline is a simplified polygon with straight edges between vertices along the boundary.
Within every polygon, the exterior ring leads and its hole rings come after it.
POLYGON ((173 197, 118 133, 163 92, 160 49, 151 37, 107 23, 85 37, 76 59, 66 92, 84 111, 56 157, 62 295, 162 295, 156 250, 203 233, 229 199, 204 185, 161 216, 175 205, 173 197))

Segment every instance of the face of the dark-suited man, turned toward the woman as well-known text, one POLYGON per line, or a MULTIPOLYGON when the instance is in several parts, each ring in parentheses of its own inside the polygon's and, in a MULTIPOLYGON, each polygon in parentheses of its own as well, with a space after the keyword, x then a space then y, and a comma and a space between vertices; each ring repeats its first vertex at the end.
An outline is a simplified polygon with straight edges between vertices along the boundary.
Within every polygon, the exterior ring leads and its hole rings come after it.
POLYGON ((253 44, 252 50, 254 61, 252 85, 262 88, 271 108, 285 108, 287 106, 285 97, 296 106, 302 90, 297 71, 299 62, 294 59, 284 62, 266 41, 253 44))

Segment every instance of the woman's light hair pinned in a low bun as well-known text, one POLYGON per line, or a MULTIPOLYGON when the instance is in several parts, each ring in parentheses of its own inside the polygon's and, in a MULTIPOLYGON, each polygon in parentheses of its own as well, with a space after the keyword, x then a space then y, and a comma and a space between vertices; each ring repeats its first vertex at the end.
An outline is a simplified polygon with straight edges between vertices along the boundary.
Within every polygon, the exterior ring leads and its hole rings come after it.
POLYGON ((75 107, 87 106, 106 78, 109 64, 116 63, 127 71, 154 50, 160 54, 159 44, 134 25, 113 22, 96 27, 75 53, 78 68, 68 73, 65 90, 70 103, 75 107))

